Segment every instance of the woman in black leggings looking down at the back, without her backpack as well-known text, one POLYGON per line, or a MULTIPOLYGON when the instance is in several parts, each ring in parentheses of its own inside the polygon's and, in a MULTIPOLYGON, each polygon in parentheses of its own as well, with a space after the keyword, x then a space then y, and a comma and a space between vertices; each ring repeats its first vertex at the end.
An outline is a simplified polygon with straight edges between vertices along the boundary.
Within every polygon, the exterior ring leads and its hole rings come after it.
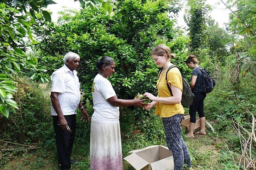
POLYGON ((206 135, 205 132, 205 116, 204 116, 204 99, 206 97, 206 92, 204 88, 204 69, 199 66, 199 61, 196 59, 196 56, 189 55, 188 59, 185 61, 188 68, 192 69, 191 83, 190 88, 194 94, 194 100, 192 105, 189 107, 190 115, 190 125, 188 137, 194 137, 194 127, 196 124, 196 111, 199 114, 200 118, 200 131, 197 131, 195 134, 206 135))

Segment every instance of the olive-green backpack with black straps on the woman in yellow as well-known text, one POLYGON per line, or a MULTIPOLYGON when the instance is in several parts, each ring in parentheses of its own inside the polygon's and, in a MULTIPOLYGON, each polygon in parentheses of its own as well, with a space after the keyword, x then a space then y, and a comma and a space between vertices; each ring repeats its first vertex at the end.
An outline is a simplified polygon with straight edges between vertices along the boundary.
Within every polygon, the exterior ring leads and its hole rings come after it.
MULTIPOLYGON (((168 84, 168 80, 167 80, 167 73, 168 71, 170 71, 172 68, 174 67, 177 67, 175 65, 171 65, 168 70, 166 71, 166 76, 165 76, 165 79, 166 79, 166 84, 167 84, 167 87, 171 93, 171 96, 172 95, 172 92, 171 92, 171 87, 169 86, 168 84)), ((177 67, 178 68, 178 67, 177 67)), ((159 76, 161 74, 161 72, 163 71, 163 69, 159 72, 159 76)), ((187 80, 183 77, 182 77, 182 96, 181 96, 181 105, 183 107, 189 107, 190 105, 192 105, 193 103, 193 99, 194 99, 194 94, 192 93, 191 89, 190 89, 190 86, 187 82, 187 80)))

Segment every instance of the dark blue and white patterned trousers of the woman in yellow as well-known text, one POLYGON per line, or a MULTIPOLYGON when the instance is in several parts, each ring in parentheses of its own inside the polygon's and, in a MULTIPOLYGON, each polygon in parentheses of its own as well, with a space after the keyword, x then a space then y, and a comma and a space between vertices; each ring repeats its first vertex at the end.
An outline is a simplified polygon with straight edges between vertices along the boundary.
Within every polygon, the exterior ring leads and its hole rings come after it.
POLYGON ((167 147, 173 153, 174 170, 182 170, 184 163, 191 167, 188 147, 181 136, 182 118, 183 114, 163 118, 167 147))

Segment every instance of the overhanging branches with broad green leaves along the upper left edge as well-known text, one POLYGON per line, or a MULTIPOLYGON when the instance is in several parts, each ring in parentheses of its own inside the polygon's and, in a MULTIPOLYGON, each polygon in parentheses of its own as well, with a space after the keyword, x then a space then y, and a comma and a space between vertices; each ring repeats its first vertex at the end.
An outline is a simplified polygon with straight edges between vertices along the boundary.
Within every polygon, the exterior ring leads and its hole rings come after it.
MULTIPOLYGON (((50 14, 41 7, 52 3, 51 0, 0 1, 0 111, 7 118, 10 109, 14 112, 15 108, 19 109, 13 100, 17 88, 10 79, 18 79, 19 72, 28 69, 32 72, 45 71, 37 69, 37 59, 27 57, 25 52, 29 45, 38 43, 32 25, 44 21, 43 17, 51 22, 50 14)), ((43 74, 40 75, 38 79, 47 81, 43 74)))

